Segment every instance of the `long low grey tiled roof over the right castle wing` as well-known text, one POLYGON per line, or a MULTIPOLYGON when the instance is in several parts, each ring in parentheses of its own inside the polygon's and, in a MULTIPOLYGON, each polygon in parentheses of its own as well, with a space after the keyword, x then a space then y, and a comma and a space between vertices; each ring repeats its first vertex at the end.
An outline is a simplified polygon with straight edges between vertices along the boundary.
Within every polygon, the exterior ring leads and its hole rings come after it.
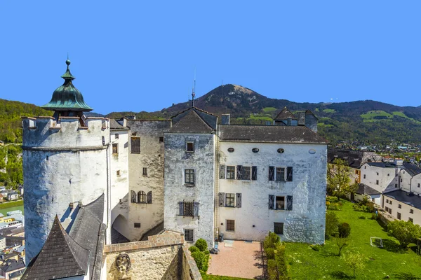
POLYGON ((303 126, 220 125, 220 141, 328 144, 319 134, 303 126))

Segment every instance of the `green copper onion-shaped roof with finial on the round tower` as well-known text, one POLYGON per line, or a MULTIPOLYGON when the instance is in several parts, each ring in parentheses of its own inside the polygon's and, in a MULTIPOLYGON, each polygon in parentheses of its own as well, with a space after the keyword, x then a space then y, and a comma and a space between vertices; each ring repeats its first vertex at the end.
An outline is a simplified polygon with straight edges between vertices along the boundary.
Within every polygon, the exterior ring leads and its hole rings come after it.
POLYGON ((66 64, 67 71, 61 76, 65 83, 53 92, 51 101, 41 108, 51 111, 92 111, 93 109, 84 102, 81 92, 72 83, 74 76, 70 73, 69 59, 66 60, 66 64))

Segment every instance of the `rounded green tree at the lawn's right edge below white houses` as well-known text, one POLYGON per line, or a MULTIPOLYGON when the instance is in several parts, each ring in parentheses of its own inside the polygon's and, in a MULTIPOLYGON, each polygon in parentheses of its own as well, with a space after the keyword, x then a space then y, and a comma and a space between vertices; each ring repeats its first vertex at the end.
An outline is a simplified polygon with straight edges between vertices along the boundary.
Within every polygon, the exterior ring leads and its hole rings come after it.
POLYGON ((390 235, 398 239, 401 248, 406 248, 411 242, 421 237, 421 226, 411 221, 393 221, 387 224, 390 235))

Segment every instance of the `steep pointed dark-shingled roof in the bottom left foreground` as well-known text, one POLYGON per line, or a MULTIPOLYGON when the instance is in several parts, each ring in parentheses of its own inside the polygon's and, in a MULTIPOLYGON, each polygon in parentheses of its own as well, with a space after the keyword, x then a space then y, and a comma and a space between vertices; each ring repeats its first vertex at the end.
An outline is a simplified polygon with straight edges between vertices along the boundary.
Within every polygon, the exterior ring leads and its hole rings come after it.
POLYGON ((44 246, 29 263, 22 280, 60 279, 85 275, 89 251, 76 243, 55 216, 44 246))

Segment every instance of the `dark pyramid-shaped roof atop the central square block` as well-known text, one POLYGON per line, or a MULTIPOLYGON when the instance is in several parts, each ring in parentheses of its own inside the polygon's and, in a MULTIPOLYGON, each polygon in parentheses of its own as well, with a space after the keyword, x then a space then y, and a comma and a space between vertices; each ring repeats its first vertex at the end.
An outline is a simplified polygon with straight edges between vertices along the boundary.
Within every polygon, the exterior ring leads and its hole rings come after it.
POLYGON ((214 130, 208 123, 199 116, 194 109, 190 109, 185 116, 182 116, 173 127, 170 132, 180 133, 212 133, 214 130))

